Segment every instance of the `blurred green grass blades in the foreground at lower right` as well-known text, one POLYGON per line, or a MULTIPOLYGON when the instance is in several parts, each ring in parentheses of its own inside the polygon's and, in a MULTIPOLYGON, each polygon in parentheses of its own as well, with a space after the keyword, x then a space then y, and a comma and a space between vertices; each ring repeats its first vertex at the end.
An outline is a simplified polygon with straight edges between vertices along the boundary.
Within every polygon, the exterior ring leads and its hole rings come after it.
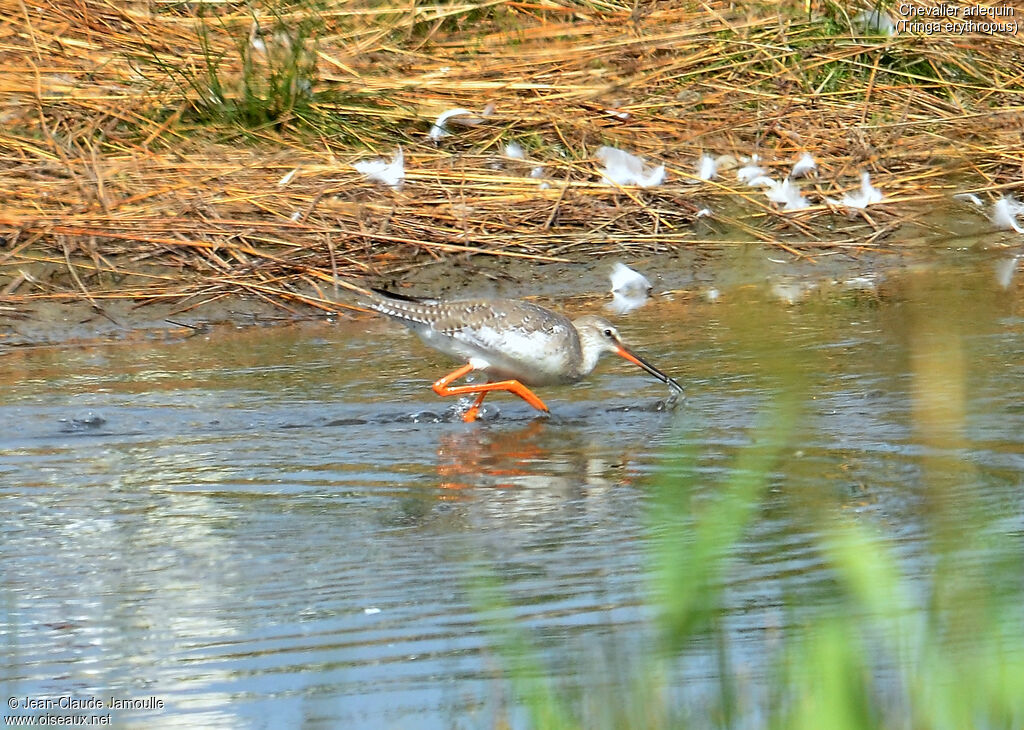
MULTIPOLYGON (((793 504, 807 512, 799 519, 815 525, 815 570, 826 588, 783 588, 782 626, 760 628, 756 668, 736 665, 730 649, 739 637, 725 616, 730 570, 744 559, 744 533, 768 491, 786 488, 791 467, 806 469, 793 466, 801 447, 795 434, 808 402, 804 379, 814 370, 806 358, 773 349, 771 335, 752 334, 777 388, 748 444, 711 486, 696 448, 676 447, 649 490, 654 641, 639 651, 613 648, 605 652, 614 657, 607 665, 581 668, 597 688, 580 688, 545 665, 497 583, 484 581, 478 590, 529 727, 1024 727, 1020 516, 984 507, 972 493, 977 480, 963 435, 970 327, 956 314, 968 303, 920 294, 928 305, 910 305, 918 325, 907 333, 907 370, 911 442, 921 454, 915 489, 924 500, 914 541, 924 557, 908 561, 900 536, 886 533, 871 514, 802 495, 793 504), (935 315, 942 311, 948 316, 935 315), (679 681, 688 662, 699 667, 687 675, 702 678, 699 689, 679 681)), ((759 326, 746 327, 755 333, 759 326)))

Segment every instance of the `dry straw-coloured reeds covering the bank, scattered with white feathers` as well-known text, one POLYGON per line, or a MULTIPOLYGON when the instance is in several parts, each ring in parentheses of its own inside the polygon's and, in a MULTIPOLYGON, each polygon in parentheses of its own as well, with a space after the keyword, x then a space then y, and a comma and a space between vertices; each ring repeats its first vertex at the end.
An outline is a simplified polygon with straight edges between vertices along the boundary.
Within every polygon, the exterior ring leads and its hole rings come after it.
POLYGON ((877 248, 951 180, 1018 184, 1021 40, 872 35, 853 12, 0 0, 0 295, 316 303, 336 276, 666 251, 725 227, 793 253, 877 248), (481 119, 435 142, 450 108, 481 119), (527 161, 503 157, 513 141, 527 161), (664 162, 668 181, 601 184, 601 144, 664 162), (398 190, 351 167, 398 145, 398 190), (703 152, 757 153, 777 176, 811 152, 812 207, 780 212, 732 172, 695 180, 703 152), (861 170, 885 204, 823 203, 861 170))

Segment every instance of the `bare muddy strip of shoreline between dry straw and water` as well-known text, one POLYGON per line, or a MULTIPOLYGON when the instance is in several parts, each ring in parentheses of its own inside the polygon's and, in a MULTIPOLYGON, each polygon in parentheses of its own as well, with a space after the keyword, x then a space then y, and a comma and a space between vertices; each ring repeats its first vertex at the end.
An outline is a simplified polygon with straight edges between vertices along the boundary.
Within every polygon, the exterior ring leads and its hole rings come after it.
MULTIPOLYGON (((886 282, 908 271, 943 269, 958 265, 965 258, 983 257, 991 259, 993 270, 1002 262, 1002 276, 1011 286, 1017 268, 1014 257, 1019 251, 1014 241, 979 231, 977 238, 958 244, 946 248, 901 246, 859 255, 826 250, 803 256, 752 244, 549 264, 474 257, 430 262, 373 285, 413 296, 538 298, 555 308, 594 311, 610 300, 608 273, 611 265, 622 260, 647 275, 653 284, 654 301, 713 301, 741 288, 761 287, 781 304, 793 305, 814 297, 848 296, 850 292, 884 296, 886 282)), ((337 293, 330 286, 322 291, 341 303, 354 301, 341 288, 337 293)), ((286 308, 242 292, 182 311, 196 303, 113 298, 93 298, 90 302, 83 298, 71 302, 30 300, 12 305, 0 300, 0 348, 173 340, 222 327, 274 327, 371 316, 344 309, 332 314, 301 305, 286 308)))

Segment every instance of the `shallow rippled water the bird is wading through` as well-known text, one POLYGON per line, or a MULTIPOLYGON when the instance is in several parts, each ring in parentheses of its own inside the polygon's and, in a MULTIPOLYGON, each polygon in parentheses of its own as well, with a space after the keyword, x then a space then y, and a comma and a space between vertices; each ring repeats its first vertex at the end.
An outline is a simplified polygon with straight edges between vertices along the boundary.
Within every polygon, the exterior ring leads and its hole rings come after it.
MULTIPOLYGON (((501 582, 560 682, 628 683, 663 462, 686 450, 714 493, 796 380, 806 406, 723 615, 756 675, 781 596, 827 592, 822 510, 883 525, 922 576, 936 501, 1021 529, 1024 316, 997 263, 657 300, 620 329, 687 386, 674 411, 605 362, 542 389, 550 418, 499 394, 466 425, 429 389, 451 363, 377 320, 8 350, 0 683, 164 702, 122 726, 521 725, 474 581, 501 582)), ((694 657, 681 690, 713 680, 694 657)))

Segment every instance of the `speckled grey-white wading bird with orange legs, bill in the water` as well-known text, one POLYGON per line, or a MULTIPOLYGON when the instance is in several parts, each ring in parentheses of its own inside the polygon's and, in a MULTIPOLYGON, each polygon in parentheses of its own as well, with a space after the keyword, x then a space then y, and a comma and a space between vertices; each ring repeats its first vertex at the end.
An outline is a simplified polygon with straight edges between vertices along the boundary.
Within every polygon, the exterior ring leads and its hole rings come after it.
POLYGON ((433 385, 438 395, 476 394, 463 417, 476 420, 483 398, 494 390, 518 395, 538 411, 548 411, 527 386, 575 383, 590 374, 605 352, 614 352, 667 383, 676 395, 683 388, 632 352, 611 323, 588 314, 577 319, 518 299, 413 300, 385 292, 364 297, 364 304, 415 332, 430 347, 466 364, 433 385), (453 385, 473 371, 486 383, 453 385))

